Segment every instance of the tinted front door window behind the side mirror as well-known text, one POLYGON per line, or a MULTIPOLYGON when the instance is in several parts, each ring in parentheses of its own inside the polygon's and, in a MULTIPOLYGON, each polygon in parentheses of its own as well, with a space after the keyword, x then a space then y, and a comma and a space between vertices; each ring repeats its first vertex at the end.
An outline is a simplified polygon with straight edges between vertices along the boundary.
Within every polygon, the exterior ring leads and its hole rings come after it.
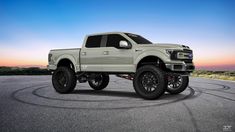
POLYGON ((106 47, 119 48, 119 42, 121 40, 127 41, 123 36, 118 35, 118 34, 108 35, 108 40, 107 40, 107 43, 106 43, 106 47))

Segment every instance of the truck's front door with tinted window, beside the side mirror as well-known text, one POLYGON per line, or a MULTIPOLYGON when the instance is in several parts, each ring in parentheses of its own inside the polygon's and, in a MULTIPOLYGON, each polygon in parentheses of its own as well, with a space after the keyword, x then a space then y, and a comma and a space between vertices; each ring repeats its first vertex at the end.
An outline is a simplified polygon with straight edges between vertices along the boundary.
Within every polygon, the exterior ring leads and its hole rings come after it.
MULTIPOLYGON (((130 42, 120 34, 106 36, 105 48, 101 48, 103 71, 107 72, 133 72, 133 50, 119 47, 121 40, 130 42)), ((105 36, 104 36, 105 38, 105 36)))

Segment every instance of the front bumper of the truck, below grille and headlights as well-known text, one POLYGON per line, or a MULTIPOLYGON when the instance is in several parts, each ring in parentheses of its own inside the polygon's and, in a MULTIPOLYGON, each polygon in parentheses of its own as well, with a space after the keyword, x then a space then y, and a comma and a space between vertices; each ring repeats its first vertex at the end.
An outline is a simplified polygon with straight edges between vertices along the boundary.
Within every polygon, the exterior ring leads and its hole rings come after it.
POLYGON ((195 66, 193 63, 166 63, 166 68, 171 71, 177 71, 177 72, 192 72, 195 69, 195 66))

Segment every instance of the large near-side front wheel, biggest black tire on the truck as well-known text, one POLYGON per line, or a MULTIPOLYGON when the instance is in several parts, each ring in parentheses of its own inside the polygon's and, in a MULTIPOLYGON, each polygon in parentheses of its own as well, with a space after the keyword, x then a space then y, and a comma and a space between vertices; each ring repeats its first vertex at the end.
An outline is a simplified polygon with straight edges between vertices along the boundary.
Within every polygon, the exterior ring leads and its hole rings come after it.
POLYGON ((164 72, 156 66, 142 66, 134 76, 133 86, 142 98, 157 99, 165 92, 164 72))

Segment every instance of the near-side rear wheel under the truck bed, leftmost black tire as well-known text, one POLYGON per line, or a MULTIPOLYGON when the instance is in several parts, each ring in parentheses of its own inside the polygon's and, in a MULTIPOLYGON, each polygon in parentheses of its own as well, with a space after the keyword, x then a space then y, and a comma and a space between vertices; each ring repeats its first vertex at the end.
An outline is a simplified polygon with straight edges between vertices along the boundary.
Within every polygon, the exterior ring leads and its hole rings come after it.
POLYGON ((52 75, 52 84, 59 93, 72 92, 77 84, 75 72, 68 67, 58 67, 52 75))

